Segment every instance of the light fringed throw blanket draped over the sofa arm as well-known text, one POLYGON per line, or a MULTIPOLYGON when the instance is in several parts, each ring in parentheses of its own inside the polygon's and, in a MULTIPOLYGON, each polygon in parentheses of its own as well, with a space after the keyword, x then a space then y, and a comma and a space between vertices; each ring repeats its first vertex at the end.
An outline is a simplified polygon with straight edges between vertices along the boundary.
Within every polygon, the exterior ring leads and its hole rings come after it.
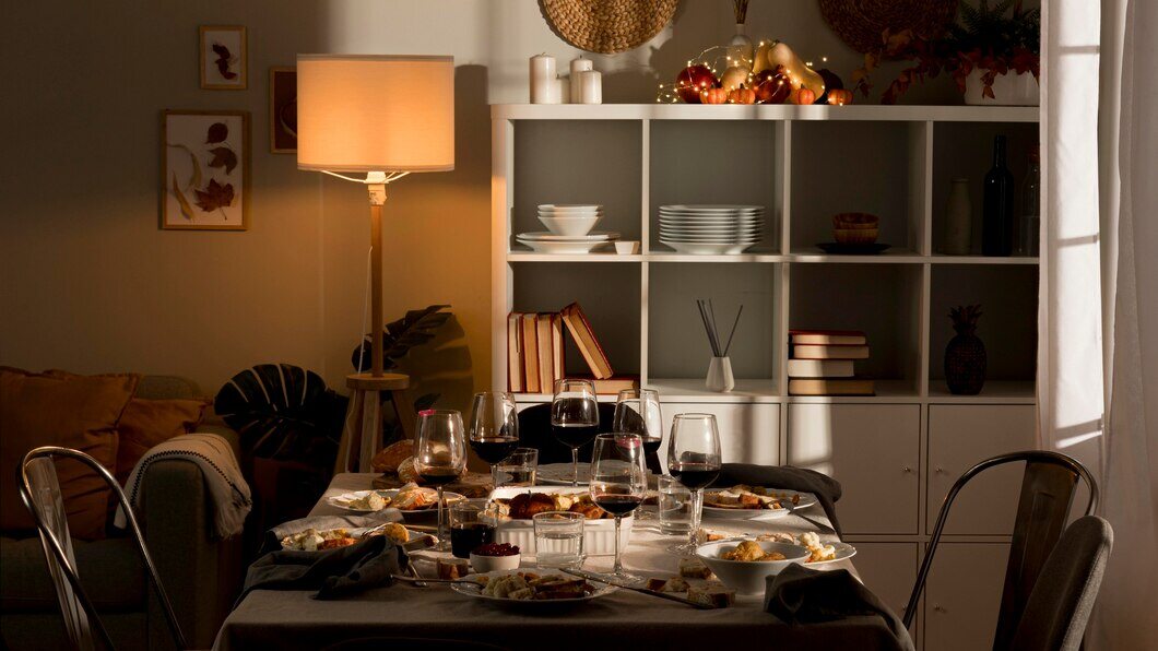
MULTIPOLYGON (((241 476, 241 468, 237 467, 233 448, 217 434, 193 433, 173 437, 145 453, 129 475, 129 483, 125 485, 129 503, 133 506, 140 504, 145 471, 149 465, 168 459, 192 461, 201 469, 205 488, 213 502, 213 525, 217 535, 225 539, 241 533, 245 515, 249 514, 254 503, 249 484, 241 476)), ((122 529, 129 526, 120 506, 117 506, 113 525, 122 529)))

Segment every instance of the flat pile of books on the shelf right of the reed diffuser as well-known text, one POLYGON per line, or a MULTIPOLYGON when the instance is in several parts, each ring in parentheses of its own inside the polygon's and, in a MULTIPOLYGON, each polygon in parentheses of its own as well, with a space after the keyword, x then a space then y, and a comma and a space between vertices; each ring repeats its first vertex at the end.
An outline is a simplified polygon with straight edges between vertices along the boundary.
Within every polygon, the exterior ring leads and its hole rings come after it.
POLYGON ((853 361, 868 359, 868 338, 856 330, 789 330, 789 395, 873 395, 853 361))

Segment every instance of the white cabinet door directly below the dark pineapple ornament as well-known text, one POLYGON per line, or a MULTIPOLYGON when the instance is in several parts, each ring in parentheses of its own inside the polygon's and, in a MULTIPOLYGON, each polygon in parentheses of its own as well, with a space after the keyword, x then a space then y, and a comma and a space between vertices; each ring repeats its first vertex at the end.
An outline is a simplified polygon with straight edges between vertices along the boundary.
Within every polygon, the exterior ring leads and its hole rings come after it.
MULTIPOLYGON (((1019 404, 933 404, 929 407, 929 517, 932 533, 937 513, 962 473, 979 461, 1034 447, 1035 411, 1019 404)), ((990 468, 958 493, 945 533, 1013 533, 1021 495, 1024 463, 990 468)))

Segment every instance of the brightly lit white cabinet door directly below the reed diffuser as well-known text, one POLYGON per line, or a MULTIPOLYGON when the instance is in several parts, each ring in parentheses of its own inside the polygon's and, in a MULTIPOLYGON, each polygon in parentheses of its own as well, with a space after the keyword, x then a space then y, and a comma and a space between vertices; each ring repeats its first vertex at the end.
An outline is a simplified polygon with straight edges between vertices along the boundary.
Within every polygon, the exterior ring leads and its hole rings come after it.
POLYGON ((665 402, 664 445, 659 458, 667 468, 667 444, 676 414, 712 414, 720 431, 724 463, 780 463, 780 405, 774 403, 734 404, 708 402, 665 402))

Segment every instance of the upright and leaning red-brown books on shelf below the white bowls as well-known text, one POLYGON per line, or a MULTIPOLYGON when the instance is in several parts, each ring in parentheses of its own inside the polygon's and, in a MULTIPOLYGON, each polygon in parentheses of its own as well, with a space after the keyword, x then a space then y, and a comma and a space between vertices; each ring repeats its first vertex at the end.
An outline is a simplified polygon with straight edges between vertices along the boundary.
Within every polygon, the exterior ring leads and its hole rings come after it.
POLYGON ((512 312, 507 316, 507 388, 511 392, 549 394, 555 390, 555 380, 585 376, 566 373, 564 326, 591 368, 588 379, 594 381, 595 393, 617 394, 639 387, 638 376, 615 374, 582 308, 571 303, 559 312, 512 312))

